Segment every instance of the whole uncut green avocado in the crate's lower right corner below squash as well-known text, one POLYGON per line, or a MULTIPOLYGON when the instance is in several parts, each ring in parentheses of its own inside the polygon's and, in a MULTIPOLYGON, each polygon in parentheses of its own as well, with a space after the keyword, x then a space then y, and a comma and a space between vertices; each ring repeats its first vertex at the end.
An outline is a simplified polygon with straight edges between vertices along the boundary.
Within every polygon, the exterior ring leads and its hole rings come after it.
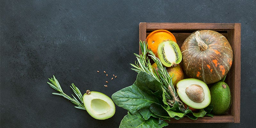
POLYGON ((210 105, 213 106, 212 113, 214 115, 225 114, 231 104, 230 89, 228 84, 219 81, 212 85, 210 92, 212 98, 210 105), (222 85, 226 85, 226 88, 223 88, 222 85))

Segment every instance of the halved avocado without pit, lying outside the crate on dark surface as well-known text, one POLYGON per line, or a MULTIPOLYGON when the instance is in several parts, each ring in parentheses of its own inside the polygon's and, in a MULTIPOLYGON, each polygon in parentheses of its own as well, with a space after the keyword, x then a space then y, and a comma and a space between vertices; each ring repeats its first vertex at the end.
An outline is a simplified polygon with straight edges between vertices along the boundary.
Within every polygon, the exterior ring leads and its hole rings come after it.
POLYGON ((86 111, 95 119, 105 120, 114 116, 116 107, 107 95, 101 92, 87 92, 83 96, 86 111))

